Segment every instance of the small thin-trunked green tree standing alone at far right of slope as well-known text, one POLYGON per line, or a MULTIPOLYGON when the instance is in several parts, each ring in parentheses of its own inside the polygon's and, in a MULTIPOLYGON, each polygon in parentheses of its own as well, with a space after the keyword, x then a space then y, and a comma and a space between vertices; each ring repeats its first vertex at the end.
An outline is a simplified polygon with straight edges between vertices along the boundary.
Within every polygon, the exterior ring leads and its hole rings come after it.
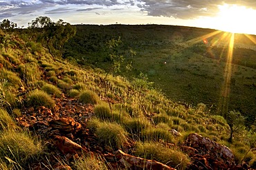
POLYGON ((230 111, 226 116, 227 123, 230 127, 230 138, 228 138, 228 142, 232 142, 233 134, 242 127, 244 127, 244 116, 241 116, 239 111, 230 111))

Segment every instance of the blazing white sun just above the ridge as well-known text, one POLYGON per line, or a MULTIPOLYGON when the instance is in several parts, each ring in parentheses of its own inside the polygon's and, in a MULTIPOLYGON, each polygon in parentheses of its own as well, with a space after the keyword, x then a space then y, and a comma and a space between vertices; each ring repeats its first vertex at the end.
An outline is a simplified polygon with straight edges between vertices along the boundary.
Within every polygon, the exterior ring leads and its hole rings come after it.
POLYGON ((224 4, 218 6, 217 27, 219 30, 232 33, 255 32, 256 10, 246 8, 245 6, 224 4))

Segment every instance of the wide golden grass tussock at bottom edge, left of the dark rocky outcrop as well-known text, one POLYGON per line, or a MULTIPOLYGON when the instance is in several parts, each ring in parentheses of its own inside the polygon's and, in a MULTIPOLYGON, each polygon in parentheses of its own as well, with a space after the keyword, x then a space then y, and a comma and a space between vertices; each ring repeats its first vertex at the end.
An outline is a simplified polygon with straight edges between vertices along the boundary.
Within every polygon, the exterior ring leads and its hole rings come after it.
POLYGON ((176 169, 186 169, 190 162, 188 156, 185 156, 181 151, 166 148, 156 142, 139 142, 134 154, 141 158, 162 162, 176 169))

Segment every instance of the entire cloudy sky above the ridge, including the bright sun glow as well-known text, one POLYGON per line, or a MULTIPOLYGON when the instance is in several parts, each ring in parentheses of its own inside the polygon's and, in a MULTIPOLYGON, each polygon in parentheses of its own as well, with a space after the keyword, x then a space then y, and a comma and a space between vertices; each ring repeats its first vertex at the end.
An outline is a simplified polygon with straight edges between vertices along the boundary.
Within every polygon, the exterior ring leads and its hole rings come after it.
POLYGON ((36 17, 71 24, 166 24, 256 34, 256 0, 0 0, 0 21, 36 17))

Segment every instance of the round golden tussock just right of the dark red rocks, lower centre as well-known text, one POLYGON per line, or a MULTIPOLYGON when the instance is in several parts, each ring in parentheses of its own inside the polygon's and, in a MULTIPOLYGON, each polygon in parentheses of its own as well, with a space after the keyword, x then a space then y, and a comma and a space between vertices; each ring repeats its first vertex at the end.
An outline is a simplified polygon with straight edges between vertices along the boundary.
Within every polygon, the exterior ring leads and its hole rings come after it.
POLYGON ((117 123, 100 123, 95 134, 103 145, 113 148, 119 149, 128 143, 127 132, 117 123))

